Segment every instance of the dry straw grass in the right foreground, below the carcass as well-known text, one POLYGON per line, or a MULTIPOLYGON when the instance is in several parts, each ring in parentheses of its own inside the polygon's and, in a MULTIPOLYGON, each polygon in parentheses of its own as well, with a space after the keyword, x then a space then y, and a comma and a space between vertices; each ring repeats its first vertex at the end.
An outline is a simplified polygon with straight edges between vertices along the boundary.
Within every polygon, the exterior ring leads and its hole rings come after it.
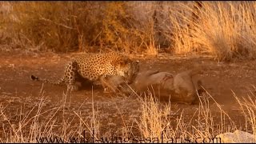
MULTIPOLYGON (((246 127, 248 128, 246 131, 250 129, 253 130, 252 133, 255 134, 254 126, 256 123, 254 113, 256 109, 254 99, 251 97, 248 99, 236 98, 241 106, 246 122, 248 122, 246 123, 246 127)), ((194 116, 191 118, 190 122, 184 121, 186 115, 182 112, 182 114, 177 117, 177 123, 175 123, 176 127, 174 127, 173 124, 170 125, 169 119, 174 117, 177 112, 170 110, 170 104, 160 106, 158 100, 154 99, 154 96, 149 95, 149 97, 141 100, 142 116, 138 121, 139 130, 144 138, 151 138, 151 142, 156 138, 158 138, 160 142, 162 137, 166 138, 163 142, 203 142, 204 138, 206 138, 208 142, 219 142, 219 139, 215 138, 216 135, 234 132, 234 130, 238 130, 239 128, 234 124, 234 121, 226 111, 222 110, 222 106, 215 101, 220 117, 214 118, 211 114, 209 99, 214 100, 210 94, 204 94, 203 97, 200 97, 198 110, 194 112, 194 116), (216 126, 218 122, 221 122, 221 124, 216 126)))

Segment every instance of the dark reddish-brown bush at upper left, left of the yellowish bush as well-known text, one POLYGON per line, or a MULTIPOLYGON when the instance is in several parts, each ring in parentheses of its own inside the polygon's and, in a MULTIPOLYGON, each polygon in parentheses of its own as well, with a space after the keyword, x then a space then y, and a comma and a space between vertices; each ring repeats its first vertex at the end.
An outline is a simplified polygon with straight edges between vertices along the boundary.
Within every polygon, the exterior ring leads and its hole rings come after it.
POLYGON ((9 3, 16 19, 6 27, 13 41, 25 49, 40 46, 39 50, 81 50, 90 46, 102 23, 102 6, 97 2, 9 3))

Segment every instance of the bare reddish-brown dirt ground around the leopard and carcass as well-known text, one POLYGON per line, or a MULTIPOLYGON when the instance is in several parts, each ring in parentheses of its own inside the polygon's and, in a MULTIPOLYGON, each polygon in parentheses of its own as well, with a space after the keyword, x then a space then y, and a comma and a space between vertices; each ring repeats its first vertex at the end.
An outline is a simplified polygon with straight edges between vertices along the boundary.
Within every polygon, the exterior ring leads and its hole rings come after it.
MULTIPOLYGON (((11 123, 19 122, 22 117, 29 114, 42 95, 45 98, 42 111, 63 104, 66 86, 42 85, 40 82, 30 80, 30 74, 57 80, 62 77, 66 62, 77 54, 24 54, 19 51, 1 51, 0 55, 0 103, 11 123)), ((195 65, 202 66, 205 73, 201 75, 201 78, 205 89, 222 106, 222 110, 226 110, 235 125, 244 130, 244 118, 238 110, 238 102, 235 101, 233 95, 236 94, 242 98, 250 94, 250 90, 255 85, 256 61, 217 62, 210 57, 178 57, 167 54, 162 54, 158 58, 134 57, 134 59, 139 60, 141 71, 160 70, 178 74, 195 65)), ((161 103, 165 105, 165 102, 161 103)), ((80 112, 81 117, 89 121, 92 115, 92 104, 96 107, 102 134, 103 131, 120 131, 117 128, 124 125, 136 128, 136 121, 139 121, 140 114, 138 98, 122 98, 105 94, 101 86, 87 86, 71 96, 68 95, 66 105, 70 107, 66 109, 65 115, 60 113, 56 117, 65 116, 74 123, 73 126, 78 126, 79 118, 74 112, 80 112)), ((170 118, 174 123, 182 111, 186 115, 185 121, 190 121, 194 111, 198 110, 198 105, 172 104, 171 106, 173 106, 173 112, 178 111, 170 118)), ((209 107, 216 117, 214 123, 217 126, 218 117, 220 117, 219 109, 211 98, 209 107)), ((8 122, 1 121, 6 123, 6 126, 8 125, 8 122)), ((61 121, 61 118, 57 119, 57 123, 58 121, 61 121)), ((4 128, 3 125, 0 126, 0 130, 2 128, 4 128)))

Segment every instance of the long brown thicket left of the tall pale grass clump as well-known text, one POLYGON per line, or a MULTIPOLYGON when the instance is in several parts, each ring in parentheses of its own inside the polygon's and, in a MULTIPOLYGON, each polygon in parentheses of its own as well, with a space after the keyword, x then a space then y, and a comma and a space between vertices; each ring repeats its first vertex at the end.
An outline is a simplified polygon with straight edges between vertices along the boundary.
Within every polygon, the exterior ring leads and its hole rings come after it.
POLYGON ((2 2, 10 6, 3 29, 12 43, 28 49, 94 51, 110 48, 126 53, 150 49, 154 42, 154 5, 141 2, 2 2), (145 21, 135 10, 144 12, 145 21), (10 15, 12 17, 10 17, 10 15), (8 30, 7 30, 8 29, 8 30), (7 33, 6 33, 7 34, 7 33))

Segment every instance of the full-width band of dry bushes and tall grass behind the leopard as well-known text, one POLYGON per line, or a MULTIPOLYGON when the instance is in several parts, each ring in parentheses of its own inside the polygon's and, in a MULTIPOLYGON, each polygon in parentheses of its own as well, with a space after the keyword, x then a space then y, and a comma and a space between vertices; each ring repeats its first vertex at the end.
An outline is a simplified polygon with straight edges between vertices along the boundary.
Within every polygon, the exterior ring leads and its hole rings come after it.
POLYGON ((255 58, 256 2, 1 2, 1 43, 24 50, 118 50, 255 58))

